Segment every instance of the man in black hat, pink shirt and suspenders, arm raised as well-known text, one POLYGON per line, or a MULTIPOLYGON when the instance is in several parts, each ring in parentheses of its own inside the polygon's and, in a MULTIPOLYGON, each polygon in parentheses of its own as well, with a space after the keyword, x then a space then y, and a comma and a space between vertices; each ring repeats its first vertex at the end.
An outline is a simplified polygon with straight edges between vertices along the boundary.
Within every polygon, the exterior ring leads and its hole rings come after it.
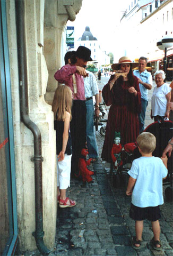
POLYGON ((86 142, 86 106, 83 77, 87 76, 85 67, 87 61, 91 61, 91 51, 85 46, 79 46, 73 52, 70 63, 56 71, 54 77, 59 83, 70 87, 73 92, 72 121, 70 123, 72 136, 72 164, 71 176, 79 173, 78 161, 81 150, 86 142), (74 76, 73 76, 74 74, 74 76), (73 76, 73 77, 72 77, 73 76), (74 91, 74 82, 77 91, 74 91))

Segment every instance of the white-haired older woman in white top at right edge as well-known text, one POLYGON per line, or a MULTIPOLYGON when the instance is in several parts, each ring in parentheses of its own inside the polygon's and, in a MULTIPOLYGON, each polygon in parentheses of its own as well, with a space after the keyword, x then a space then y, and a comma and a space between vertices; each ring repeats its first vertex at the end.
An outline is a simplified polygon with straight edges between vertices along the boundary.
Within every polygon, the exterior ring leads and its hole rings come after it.
POLYGON ((169 84, 164 82, 165 73, 163 70, 157 70, 154 74, 155 83, 153 95, 151 98, 151 118, 157 121, 157 116, 169 118, 169 107, 167 103, 170 102, 171 88, 169 84))

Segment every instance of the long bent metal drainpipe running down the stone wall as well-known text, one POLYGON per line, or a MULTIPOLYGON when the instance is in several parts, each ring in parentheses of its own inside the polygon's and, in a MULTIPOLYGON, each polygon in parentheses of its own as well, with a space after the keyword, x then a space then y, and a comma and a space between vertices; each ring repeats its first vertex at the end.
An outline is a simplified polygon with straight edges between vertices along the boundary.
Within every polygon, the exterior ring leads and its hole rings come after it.
POLYGON ((25 19, 24 19, 24 1, 15 0, 16 30, 18 40, 18 68, 20 81, 20 111, 21 121, 31 130, 34 137, 34 162, 35 175, 35 207, 36 207, 36 231, 33 236, 36 239, 36 245, 42 255, 48 255, 50 251, 44 244, 44 231, 42 219, 42 156, 41 156, 41 133, 38 126, 29 118, 28 110, 28 79, 27 79, 27 54, 25 48, 25 19))

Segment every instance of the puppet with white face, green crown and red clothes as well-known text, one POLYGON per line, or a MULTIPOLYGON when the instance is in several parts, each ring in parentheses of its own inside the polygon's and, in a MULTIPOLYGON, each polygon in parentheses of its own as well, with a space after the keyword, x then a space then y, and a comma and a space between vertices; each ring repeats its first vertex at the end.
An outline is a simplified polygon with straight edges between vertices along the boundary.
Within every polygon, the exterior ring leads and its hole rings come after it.
POLYGON ((120 144, 120 132, 115 132, 115 140, 111 149, 111 158, 113 159, 114 169, 118 169, 118 166, 123 165, 121 158, 122 145, 120 144))

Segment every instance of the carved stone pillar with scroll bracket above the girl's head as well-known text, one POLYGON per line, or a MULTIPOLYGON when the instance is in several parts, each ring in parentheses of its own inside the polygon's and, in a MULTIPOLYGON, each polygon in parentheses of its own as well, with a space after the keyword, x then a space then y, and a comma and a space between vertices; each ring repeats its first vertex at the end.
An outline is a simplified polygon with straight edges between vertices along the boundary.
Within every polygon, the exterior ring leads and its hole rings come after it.
POLYGON ((49 73, 45 100, 49 104, 54 98, 54 92, 57 87, 54 74, 62 66, 60 49, 66 46, 61 45, 62 33, 67 20, 74 21, 81 6, 82 0, 45 0, 44 55, 49 73))

